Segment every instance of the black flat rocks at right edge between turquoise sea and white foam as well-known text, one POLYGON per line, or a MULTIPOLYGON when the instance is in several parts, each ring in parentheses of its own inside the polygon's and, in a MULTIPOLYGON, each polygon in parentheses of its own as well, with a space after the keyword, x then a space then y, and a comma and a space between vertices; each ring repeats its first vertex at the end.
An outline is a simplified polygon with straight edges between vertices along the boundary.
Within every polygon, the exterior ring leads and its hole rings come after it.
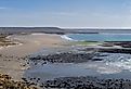
POLYGON ((131 54, 131 42, 105 42, 100 44, 100 48, 84 48, 82 51, 95 50, 97 52, 107 53, 128 53, 131 54))

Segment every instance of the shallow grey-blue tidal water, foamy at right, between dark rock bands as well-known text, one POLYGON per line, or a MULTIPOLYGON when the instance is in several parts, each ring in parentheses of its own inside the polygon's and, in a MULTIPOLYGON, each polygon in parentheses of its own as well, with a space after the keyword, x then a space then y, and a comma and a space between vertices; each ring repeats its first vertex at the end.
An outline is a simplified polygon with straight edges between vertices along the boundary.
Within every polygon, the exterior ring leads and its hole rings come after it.
MULTIPOLYGON (((86 63, 48 63, 42 61, 30 62, 30 68, 26 71, 26 77, 41 78, 41 81, 58 77, 96 76, 101 78, 130 78, 131 54, 102 53, 104 60, 86 63)), ((97 56, 95 56, 97 58, 97 56)), ((100 58, 100 56, 99 56, 100 58)))

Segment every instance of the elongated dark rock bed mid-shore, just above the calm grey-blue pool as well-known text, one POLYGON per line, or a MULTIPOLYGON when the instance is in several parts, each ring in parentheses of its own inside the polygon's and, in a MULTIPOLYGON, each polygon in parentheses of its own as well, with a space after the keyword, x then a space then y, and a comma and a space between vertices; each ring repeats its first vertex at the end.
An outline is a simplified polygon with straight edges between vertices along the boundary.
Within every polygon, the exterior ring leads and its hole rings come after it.
POLYGON ((42 60, 50 63, 81 63, 88 62, 92 60, 95 55, 94 52, 64 52, 64 53, 55 53, 49 55, 37 55, 29 58, 31 61, 42 60))

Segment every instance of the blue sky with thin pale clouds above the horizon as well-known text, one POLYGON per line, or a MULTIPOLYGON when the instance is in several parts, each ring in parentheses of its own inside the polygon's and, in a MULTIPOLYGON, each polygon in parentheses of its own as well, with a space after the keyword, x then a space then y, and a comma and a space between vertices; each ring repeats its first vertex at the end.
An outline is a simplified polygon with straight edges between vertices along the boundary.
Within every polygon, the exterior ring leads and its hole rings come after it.
POLYGON ((0 26, 131 28, 131 0, 0 0, 0 26))

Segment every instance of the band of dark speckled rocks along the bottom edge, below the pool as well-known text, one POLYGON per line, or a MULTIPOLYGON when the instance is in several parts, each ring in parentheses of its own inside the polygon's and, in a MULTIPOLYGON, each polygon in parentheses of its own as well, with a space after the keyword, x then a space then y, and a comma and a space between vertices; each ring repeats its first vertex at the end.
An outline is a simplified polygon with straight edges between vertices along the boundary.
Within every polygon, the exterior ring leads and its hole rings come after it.
POLYGON ((62 77, 48 80, 45 88, 58 89, 131 89, 129 79, 99 79, 96 77, 62 77))

